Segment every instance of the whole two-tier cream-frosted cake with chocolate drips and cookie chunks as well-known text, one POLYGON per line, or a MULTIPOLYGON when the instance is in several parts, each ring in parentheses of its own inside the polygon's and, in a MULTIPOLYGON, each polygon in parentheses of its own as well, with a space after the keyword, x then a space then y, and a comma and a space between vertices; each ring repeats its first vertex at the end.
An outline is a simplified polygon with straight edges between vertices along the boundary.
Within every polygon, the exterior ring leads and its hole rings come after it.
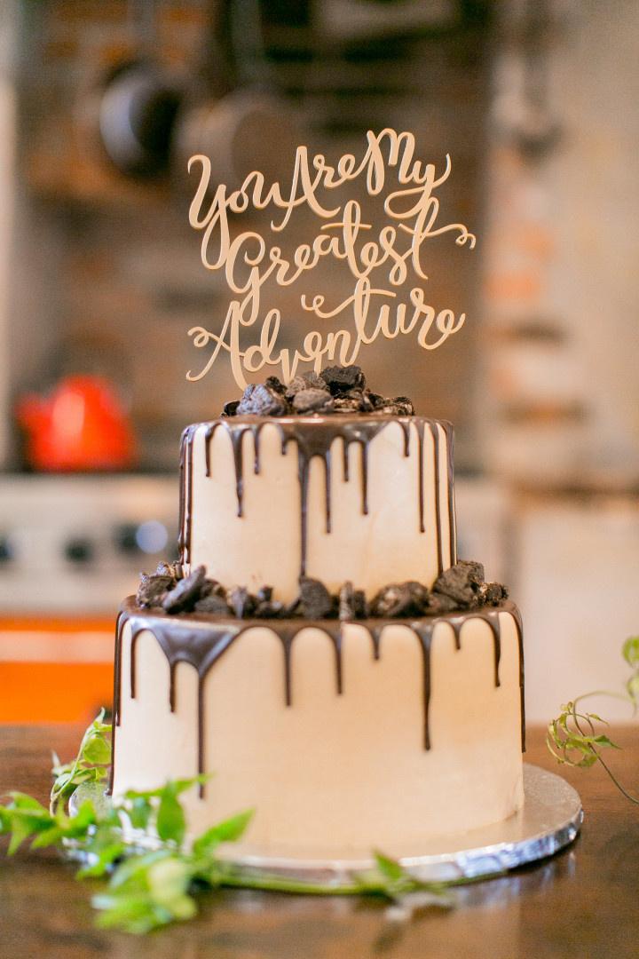
POLYGON ((117 630, 112 789, 215 776, 192 832, 416 854, 523 802, 521 620, 458 562, 449 424, 357 367, 248 387, 183 434, 180 561, 117 630))

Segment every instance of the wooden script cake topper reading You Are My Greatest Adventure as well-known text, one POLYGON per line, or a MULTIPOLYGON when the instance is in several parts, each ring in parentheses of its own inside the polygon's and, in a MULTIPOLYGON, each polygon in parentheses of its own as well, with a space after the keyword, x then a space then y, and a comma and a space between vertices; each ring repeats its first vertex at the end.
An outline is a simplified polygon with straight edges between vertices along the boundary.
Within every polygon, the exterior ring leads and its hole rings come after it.
POLYGON ((202 154, 191 157, 189 172, 199 166, 200 179, 189 222, 202 231, 202 263, 206 269, 224 270, 236 298, 231 301, 218 333, 202 326, 189 330, 194 345, 208 348, 208 353, 199 372, 187 373, 188 380, 201 380, 222 351, 230 355, 233 375, 243 389, 247 386, 245 374, 257 373, 265 365, 280 366, 282 379, 288 383, 300 363, 312 363, 317 372, 331 361, 354 363, 362 345, 379 336, 395 339, 400 334, 415 332, 423 349, 434 350, 461 329, 466 314, 455 316, 448 308, 437 311, 426 303, 421 285, 408 292, 408 302, 398 302, 398 293, 392 289, 406 283, 409 269, 418 281, 428 279, 422 246, 432 237, 453 233, 457 246, 475 246, 474 235, 463 223, 436 225, 440 203, 434 192, 450 175, 450 157, 446 154, 445 169, 438 175, 434 164, 414 158, 412 133, 369 130, 366 141, 366 150, 359 160, 353 153, 345 153, 336 166, 331 166, 322 153, 309 156, 307 147, 298 147, 290 187, 286 189, 279 182, 267 186, 263 174, 254 171, 232 193, 227 193, 224 184, 214 191, 210 159, 202 154), (391 170, 395 179, 389 184, 391 170), (387 191, 383 199, 387 222, 378 230, 377 238, 372 238, 372 224, 363 221, 361 203, 356 199, 330 203, 331 190, 358 178, 365 180, 369 197, 383 196, 384 188, 387 191), (281 246, 271 243, 270 236, 267 242, 254 230, 232 238, 230 215, 236 218, 249 210, 270 208, 270 234, 277 239, 293 211, 302 207, 328 222, 321 224, 310 243, 296 246, 290 256, 285 256, 281 246), (279 309, 270 309, 262 316, 264 283, 273 278, 278 286, 290 287, 325 258, 346 265, 355 281, 353 292, 338 302, 331 302, 323 292, 302 293, 300 306, 323 320, 324 327, 334 317, 345 319, 349 315, 350 324, 336 331, 312 330, 292 351, 279 347, 282 315, 279 309), (258 342, 242 348, 240 334, 245 327, 259 327, 260 337, 258 342))

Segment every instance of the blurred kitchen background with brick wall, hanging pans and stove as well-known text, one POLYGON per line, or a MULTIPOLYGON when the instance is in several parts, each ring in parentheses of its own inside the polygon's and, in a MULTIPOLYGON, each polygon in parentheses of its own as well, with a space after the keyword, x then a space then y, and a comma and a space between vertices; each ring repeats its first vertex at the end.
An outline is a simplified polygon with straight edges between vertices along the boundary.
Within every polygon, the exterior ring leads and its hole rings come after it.
MULTIPOLYGON (((174 551, 179 433, 237 395, 224 363, 185 379, 187 330, 217 329, 229 300, 188 225, 187 158, 210 155, 217 182, 287 179, 297 143, 336 158, 385 126, 451 154, 443 217, 478 243, 428 249, 428 302, 464 329, 361 363, 455 424, 460 552, 522 608, 529 718, 621 687, 639 633, 637 49, 633 0, 4 0, 0 722, 110 702, 114 612, 174 551)), ((308 235, 300 219, 286 242, 308 235)), ((328 267, 313 279, 348 294, 328 267)), ((298 295, 273 293, 291 345, 298 295)))

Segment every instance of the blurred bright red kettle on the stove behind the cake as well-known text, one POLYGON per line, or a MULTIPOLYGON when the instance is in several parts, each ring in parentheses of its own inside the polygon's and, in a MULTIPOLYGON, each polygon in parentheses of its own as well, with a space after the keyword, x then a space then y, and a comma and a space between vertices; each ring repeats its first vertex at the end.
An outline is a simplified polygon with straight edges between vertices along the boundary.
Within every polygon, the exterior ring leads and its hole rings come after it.
POLYGON ((27 458, 52 472, 121 470, 135 458, 135 439, 113 387, 98 376, 69 376, 48 397, 17 405, 27 458))

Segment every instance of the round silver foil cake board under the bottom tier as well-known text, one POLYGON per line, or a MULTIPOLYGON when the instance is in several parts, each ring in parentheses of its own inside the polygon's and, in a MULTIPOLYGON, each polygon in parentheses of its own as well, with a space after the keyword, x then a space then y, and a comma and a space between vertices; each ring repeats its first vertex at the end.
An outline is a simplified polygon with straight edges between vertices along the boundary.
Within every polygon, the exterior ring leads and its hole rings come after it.
MULTIPOLYGON (((524 796, 523 807, 500 823, 426 840, 412 854, 382 852, 399 858, 402 866, 423 881, 463 883, 503 875, 559 853, 573 842, 583 812, 579 794, 571 785, 556 773, 524 763, 524 796)), ((73 799, 72 812, 77 805, 73 799)), ((143 843, 139 835, 132 835, 130 841, 138 847, 149 845, 148 837, 143 843)), ((78 857, 77 851, 69 850, 69 854, 78 857)), ((372 856, 334 850, 322 855, 294 848, 259 850, 229 844, 219 855, 245 874, 247 884, 251 877, 280 877, 306 882, 315 891, 317 886, 325 886, 331 893, 352 892, 357 875, 375 868, 372 856)))

